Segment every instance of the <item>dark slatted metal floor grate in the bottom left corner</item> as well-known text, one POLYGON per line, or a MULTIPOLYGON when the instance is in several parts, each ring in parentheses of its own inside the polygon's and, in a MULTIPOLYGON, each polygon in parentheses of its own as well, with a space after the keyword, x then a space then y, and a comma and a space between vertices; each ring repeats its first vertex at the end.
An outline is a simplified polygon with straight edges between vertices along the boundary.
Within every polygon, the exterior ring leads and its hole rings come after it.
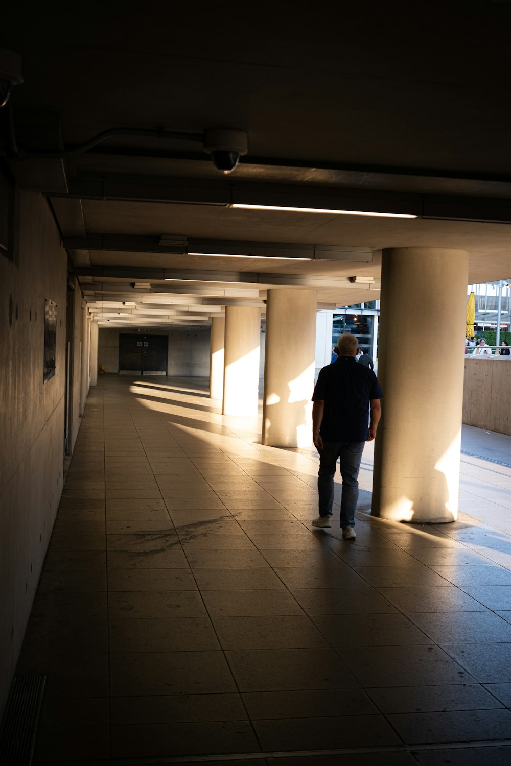
POLYGON ((15 676, 0 728, 0 766, 29 766, 46 676, 15 676))

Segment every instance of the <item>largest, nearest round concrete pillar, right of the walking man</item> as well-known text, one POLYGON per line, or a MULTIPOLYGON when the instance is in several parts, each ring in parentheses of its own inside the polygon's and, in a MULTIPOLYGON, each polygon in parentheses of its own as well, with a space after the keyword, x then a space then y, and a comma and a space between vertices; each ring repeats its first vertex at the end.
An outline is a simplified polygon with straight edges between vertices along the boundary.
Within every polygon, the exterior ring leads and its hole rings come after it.
POLYGON ((467 283, 465 250, 383 250, 374 516, 457 519, 467 283))

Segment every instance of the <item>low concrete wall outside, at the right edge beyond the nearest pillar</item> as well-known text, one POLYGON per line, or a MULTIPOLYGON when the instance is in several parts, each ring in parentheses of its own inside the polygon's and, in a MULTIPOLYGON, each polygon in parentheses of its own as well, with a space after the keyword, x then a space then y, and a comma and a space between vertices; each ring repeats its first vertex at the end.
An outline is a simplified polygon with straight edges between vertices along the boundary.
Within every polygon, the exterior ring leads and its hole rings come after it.
POLYGON ((511 436, 511 357, 465 359, 463 422, 511 436))

